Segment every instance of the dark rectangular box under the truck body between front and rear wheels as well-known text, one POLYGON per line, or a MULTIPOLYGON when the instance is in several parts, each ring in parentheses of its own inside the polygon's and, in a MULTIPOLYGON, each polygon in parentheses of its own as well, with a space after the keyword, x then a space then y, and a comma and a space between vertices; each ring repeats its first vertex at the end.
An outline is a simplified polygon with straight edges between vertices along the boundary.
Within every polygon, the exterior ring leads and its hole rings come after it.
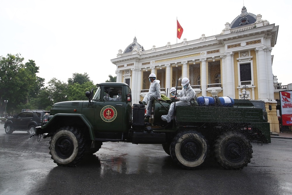
POLYGON ((151 132, 133 132, 132 134, 133 144, 162 144, 166 143, 166 133, 151 132))

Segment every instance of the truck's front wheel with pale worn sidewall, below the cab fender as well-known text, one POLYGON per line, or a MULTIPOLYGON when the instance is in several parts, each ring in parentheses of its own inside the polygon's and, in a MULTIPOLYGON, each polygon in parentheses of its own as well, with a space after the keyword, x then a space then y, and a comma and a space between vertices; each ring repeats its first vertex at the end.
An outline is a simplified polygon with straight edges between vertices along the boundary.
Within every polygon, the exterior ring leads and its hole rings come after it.
POLYGON ((85 139, 76 127, 61 127, 50 141, 50 154, 60 166, 76 165, 84 156, 85 139))

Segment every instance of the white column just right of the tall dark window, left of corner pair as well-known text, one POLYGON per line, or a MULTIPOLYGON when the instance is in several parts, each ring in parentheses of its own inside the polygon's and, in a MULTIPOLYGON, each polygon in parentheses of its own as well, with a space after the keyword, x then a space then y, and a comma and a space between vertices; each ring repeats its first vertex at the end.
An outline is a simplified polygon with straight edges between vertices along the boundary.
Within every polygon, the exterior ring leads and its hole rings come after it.
POLYGON ((267 87, 267 67, 265 64, 266 46, 257 47, 257 70, 258 70, 258 97, 260 100, 268 100, 268 87, 267 87))

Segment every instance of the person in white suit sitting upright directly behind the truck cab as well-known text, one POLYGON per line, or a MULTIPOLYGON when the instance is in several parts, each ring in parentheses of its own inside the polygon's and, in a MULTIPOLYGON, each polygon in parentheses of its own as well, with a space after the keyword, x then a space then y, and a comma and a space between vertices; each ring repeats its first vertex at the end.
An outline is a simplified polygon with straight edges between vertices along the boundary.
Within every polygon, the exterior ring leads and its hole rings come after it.
POLYGON ((151 82, 149 87, 149 92, 145 94, 144 99, 142 101, 139 101, 140 104, 147 104, 146 107, 146 119, 150 118, 151 111, 152 111, 152 101, 154 98, 157 100, 161 100, 161 92, 160 92, 160 81, 156 80, 156 75, 154 73, 151 73, 149 75, 149 81, 151 82))

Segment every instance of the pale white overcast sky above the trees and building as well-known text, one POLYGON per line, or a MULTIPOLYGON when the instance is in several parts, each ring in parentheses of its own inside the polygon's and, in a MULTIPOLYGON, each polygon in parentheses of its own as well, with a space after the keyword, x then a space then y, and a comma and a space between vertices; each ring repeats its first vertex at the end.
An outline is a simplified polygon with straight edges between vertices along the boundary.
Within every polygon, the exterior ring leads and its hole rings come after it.
POLYGON ((73 73, 88 73, 95 84, 115 76, 111 59, 136 36, 145 50, 220 34, 241 13, 261 14, 279 25, 273 74, 292 83, 290 0, 148 0, 39 1, 0 0, 0 56, 20 53, 39 66, 37 76, 67 82, 73 73), (102 2, 102 3, 100 3, 102 2), (176 17, 183 27, 176 38, 176 17))

